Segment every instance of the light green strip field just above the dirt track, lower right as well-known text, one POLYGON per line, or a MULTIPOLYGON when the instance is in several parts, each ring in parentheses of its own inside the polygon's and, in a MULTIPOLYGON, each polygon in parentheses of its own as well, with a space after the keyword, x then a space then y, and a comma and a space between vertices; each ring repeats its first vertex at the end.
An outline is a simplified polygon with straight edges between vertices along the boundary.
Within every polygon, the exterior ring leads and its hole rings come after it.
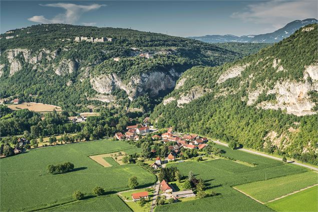
POLYGON ((316 184, 318 173, 307 171, 235 186, 261 202, 267 202, 301 188, 316 184))

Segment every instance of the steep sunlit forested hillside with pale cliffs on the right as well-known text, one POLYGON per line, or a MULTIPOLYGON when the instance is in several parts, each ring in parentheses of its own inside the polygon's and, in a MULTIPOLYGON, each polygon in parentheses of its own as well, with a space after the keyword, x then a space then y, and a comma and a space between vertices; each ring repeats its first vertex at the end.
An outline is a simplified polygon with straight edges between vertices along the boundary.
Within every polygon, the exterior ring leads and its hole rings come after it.
POLYGON ((187 70, 153 123, 318 164, 316 35, 307 25, 255 55, 187 70))

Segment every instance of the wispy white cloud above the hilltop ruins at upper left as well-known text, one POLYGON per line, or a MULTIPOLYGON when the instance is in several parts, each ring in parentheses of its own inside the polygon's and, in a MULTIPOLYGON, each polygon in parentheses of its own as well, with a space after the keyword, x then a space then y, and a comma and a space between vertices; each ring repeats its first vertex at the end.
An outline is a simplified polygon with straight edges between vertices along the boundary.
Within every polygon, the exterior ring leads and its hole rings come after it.
POLYGON ((50 7, 60 7, 66 9, 64 13, 57 14, 52 19, 48 19, 43 15, 35 15, 28 18, 28 20, 39 22, 39 23, 76 23, 85 12, 99 9, 105 4, 93 3, 91 5, 78 5, 74 3, 48 3, 40 4, 41 6, 50 6, 50 7))

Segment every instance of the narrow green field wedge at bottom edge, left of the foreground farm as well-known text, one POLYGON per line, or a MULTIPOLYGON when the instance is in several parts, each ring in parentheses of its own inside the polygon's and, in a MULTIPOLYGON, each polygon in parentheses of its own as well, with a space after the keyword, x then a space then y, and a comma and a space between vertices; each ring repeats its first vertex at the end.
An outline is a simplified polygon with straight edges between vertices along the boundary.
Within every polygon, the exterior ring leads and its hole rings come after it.
POLYGON ((43 211, 132 211, 117 195, 98 196, 43 211))

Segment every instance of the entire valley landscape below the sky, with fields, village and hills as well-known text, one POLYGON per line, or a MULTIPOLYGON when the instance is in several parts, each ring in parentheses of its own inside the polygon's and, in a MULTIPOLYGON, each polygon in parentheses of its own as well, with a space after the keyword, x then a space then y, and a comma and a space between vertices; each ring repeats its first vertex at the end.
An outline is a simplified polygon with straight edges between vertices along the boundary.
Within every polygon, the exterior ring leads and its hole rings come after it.
POLYGON ((1 211, 318 210, 316 19, 231 42, 47 22, 0 35, 1 211))

